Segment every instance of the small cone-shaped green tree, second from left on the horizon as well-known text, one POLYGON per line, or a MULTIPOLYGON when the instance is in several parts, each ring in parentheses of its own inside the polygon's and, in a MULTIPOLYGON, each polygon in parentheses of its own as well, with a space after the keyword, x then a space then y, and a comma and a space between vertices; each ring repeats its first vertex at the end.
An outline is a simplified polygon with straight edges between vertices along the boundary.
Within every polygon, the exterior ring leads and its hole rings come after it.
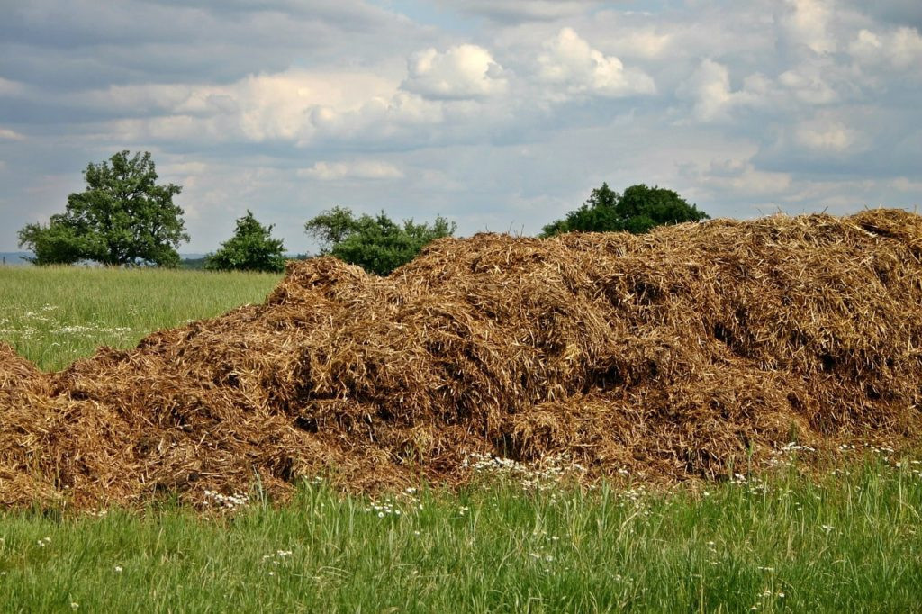
POLYGON ((230 240, 221 243, 215 254, 205 256, 205 268, 211 271, 285 270, 285 246, 281 239, 271 237, 273 226, 263 226, 249 209, 237 219, 237 230, 230 240))

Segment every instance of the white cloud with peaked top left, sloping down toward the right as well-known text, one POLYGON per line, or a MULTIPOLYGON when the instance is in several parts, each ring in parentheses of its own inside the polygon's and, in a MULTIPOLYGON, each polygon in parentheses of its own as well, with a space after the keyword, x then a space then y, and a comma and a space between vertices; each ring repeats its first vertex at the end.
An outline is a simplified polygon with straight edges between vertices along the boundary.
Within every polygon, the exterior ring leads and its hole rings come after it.
POLYGON ((562 29, 545 42, 538 55, 538 79, 567 96, 588 93, 618 98, 656 92, 653 77, 639 68, 625 68, 620 59, 594 49, 572 28, 562 29))

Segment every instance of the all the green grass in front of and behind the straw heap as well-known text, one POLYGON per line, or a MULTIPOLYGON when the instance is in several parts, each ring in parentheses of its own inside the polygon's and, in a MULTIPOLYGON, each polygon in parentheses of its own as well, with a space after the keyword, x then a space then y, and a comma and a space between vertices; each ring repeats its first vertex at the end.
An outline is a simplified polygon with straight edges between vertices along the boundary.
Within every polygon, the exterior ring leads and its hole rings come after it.
MULTIPOLYGON (((278 277, 0 268, 0 339, 57 369, 261 301, 278 277)), ((372 501, 305 480, 233 513, 0 512, 3 611, 918 611, 922 465, 524 490, 484 476, 372 501)))

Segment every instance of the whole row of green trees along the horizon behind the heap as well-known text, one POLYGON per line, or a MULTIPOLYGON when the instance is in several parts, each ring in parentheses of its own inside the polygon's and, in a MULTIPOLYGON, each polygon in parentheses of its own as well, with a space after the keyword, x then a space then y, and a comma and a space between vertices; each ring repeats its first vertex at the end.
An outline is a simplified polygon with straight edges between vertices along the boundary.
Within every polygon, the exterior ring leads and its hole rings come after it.
MULTIPOLYGON (((87 186, 67 197, 65 212, 48 224, 19 230, 19 247, 28 248, 35 265, 73 265, 91 261, 104 266, 180 265, 178 248, 188 242, 183 208, 173 197, 183 188, 158 184, 149 152, 121 151, 83 172, 87 186)), ((707 214, 672 190, 641 183, 619 194, 608 183, 593 190, 581 207, 545 226, 540 236, 564 232, 635 234, 656 226, 701 221, 707 214)), ((207 254, 208 270, 279 272, 285 268, 285 247, 272 237, 273 226, 260 223, 247 209, 236 230, 220 248, 207 254)), ((397 223, 382 211, 356 216, 348 207, 333 207, 311 218, 304 230, 329 254, 387 275, 412 260, 429 242, 454 236, 455 223, 439 216, 432 223, 412 219, 397 223)))

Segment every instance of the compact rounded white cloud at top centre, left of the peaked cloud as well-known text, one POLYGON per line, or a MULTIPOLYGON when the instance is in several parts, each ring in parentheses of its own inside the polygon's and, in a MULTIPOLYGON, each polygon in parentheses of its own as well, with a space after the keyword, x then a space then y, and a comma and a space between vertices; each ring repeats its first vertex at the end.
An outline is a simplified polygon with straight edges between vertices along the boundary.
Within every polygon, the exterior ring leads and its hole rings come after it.
POLYGON ((403 88, 430 99, 473 99, 506 89, 502 66, 483 47, 463 44, 445 52, 427 49, 408 61, 403 88))

